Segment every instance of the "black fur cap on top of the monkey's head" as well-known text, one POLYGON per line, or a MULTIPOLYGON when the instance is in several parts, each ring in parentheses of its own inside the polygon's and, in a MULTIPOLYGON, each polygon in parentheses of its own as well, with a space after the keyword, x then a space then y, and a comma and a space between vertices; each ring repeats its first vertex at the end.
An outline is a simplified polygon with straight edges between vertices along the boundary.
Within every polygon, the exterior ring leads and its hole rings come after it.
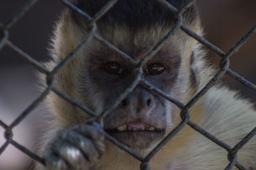
MULTIPOLYGON (((91 17, 108 2, 108 0, 70 0, 72 4, 91 17)), ((168 0, 178 10, 186 0, 168 0)), ((81 24, 85 20, 76 11, 70 11, 72 20, 81 24)), ((191 24, 196 20, 196 9, 192 5, 183 13, 184 22, 191 24)), ((152 25, 170 25, 173 23, 173 13, 156 0, 119 0, 97 24, 125 25, 132 29, 152 25)))

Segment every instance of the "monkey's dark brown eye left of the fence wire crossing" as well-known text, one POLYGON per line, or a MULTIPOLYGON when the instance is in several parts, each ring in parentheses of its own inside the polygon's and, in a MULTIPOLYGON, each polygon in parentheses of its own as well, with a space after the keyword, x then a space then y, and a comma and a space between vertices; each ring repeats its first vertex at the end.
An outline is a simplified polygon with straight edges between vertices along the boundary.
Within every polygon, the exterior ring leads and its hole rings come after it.
POLYGON ((109 74, 120 75, 125 73, 124 67, 118 62, 107 62, 103 67, 109 74))

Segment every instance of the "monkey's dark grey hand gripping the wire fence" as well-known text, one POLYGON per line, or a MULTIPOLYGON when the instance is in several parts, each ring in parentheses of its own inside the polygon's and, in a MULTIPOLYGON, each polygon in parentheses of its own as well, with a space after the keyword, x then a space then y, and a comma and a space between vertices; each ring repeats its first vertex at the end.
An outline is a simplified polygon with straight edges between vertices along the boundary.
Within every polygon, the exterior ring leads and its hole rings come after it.
POLYGON ((76 125, 61 132, 45 153, 47 169, 97 169, 104 151, 100 125, 76 125))

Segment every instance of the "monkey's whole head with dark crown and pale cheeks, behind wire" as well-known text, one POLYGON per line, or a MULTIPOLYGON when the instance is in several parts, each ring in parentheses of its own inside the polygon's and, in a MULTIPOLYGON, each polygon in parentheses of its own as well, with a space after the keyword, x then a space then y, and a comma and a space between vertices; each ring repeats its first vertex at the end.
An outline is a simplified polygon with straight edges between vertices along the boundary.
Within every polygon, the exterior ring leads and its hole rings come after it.
MULTIPOLYGON (((93 16, 108 1, 71 1, 93 16)), ((179 9, 184 1, 169 1, 179 9)), ((202 34, 195 6, 182 14, 183 24, 202 34)), ((166 36, 174 25, 173 13, 153 0, 120 0, 97 21, 97 34, 139 62, 166 36)), ((52 62, 56 66, 88 33, 86 18, 65 10, 52 39, 52 62)), ((186 103, 200 85, 199 45, 177 31, 143 66, 142 77, 152 85, 186 103), (196 56, 196 57, 195 57, 196 56), (197 76, 195 76, 195 73, 197 76)), ((136 77, 134 64, 120 53, 92 38, 76 57, 56 74, 60 90, 100 113, 124 92, 136 77)), ((88 116, 54 94, 49 103, 67 126, 83 124, 88 116)), ((106 117, 104 129, 111 136, 139 151, 156 146, 180 122, 180 110, 170 101, 141 84, 106 117)))

